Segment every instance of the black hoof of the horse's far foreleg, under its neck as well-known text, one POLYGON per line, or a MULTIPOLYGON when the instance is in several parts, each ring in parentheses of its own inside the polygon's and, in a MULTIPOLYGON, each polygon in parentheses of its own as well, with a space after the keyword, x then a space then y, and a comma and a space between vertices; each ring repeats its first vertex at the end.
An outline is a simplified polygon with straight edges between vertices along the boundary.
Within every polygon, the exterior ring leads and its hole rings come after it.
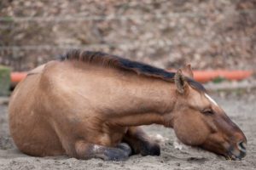
POLYGON ((156 143, 143 142, 141 145, 142 156, 160 156, 160 145, 156 143))

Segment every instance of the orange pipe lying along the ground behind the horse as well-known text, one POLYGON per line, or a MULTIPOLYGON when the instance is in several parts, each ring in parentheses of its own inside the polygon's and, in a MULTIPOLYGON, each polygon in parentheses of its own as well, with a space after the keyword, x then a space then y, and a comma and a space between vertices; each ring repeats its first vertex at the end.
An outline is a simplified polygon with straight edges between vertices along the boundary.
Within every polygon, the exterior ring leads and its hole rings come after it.
MULTIPOLYGON (((174 71, 169 69, 168 71, 174 71)), ((209 82, 215 78, 223 77, 228 80, 242 80, 247 77, 252 76, 253 71, 193 71, 194 78, 198 82, 209 82)), ((26 77, 26 72, 12 72, 11 73, 11 82, 17 84, 26 77)))

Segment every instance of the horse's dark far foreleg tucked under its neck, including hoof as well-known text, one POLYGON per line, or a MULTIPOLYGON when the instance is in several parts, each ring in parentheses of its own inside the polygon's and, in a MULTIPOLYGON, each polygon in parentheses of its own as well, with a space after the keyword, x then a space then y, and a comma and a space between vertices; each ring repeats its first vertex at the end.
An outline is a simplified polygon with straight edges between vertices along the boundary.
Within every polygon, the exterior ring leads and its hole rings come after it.
POLYGON ((141 127, 129 127, 123 141, 130 144, 133 153, 142 156, 160 156, 160 145, 150 139, 141 127))

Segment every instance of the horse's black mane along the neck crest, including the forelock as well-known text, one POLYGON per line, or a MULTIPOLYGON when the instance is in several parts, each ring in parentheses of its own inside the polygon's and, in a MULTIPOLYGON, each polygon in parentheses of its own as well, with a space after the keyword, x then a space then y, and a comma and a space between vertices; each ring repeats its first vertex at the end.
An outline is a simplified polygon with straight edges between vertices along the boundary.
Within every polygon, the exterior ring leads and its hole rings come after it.
MULTIPOLYGON (((120 70, 135 71, 138 75, 157 77, 167 82, 174 82, 175 76, 175 72, 165 71, 152 65, 147 65, 102 52, 80 51, 79 49, 73 49, 68 51, 67 54, 61 55, 60 60, 79 60, 96 65, 115 67, 120 70)), ((200 82, 196 82, 194 79, 189 77, 186 77, 186 80, 192 88, 195 88, 198 91, 206 91, 200 82)))

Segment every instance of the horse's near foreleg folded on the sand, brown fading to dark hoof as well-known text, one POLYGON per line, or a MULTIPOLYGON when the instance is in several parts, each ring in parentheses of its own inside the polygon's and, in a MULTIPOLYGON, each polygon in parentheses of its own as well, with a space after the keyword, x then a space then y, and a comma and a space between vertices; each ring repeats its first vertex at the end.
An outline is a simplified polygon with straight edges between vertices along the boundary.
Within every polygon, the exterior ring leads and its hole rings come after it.
POLYGON ((75 144, 75 149, 79 159, 101 158, 105 161, 124 161, 131 155, 131 148, 125 143, 117 147, 106 147, 79 141, 75 144))

